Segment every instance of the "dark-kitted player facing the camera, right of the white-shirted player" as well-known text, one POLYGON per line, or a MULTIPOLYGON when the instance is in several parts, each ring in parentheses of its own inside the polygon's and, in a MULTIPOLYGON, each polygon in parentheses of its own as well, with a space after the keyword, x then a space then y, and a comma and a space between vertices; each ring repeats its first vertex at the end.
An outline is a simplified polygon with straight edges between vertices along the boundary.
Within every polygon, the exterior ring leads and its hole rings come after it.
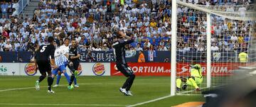
POLYGON ((75 39, 72 39, 72 46, 70 47, 70 52, 69 52, 69 64, 68 67, 70 68, 71 71, 71 77, 70 77, 70 83, 68 84, 68 89, 73 89, 73 81, 75 78, 78 77, 78 67, 79 67, 79 62, 80 62, 80 48, 77 45, 77 42, 75 39))

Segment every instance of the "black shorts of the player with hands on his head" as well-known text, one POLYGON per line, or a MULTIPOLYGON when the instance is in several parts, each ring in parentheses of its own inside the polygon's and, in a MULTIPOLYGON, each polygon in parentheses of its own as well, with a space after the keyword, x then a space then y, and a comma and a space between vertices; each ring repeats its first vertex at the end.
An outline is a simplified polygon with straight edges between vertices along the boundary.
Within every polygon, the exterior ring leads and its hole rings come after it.
POLYGON ((132 72, 132 69, 128 66, 128 64, 117 64, 117 69, 119 70, 119 72, 122 72, 122 74, 124 74, 125 77, 129 77, 132 74, 134 74, 134 72, 132 72))

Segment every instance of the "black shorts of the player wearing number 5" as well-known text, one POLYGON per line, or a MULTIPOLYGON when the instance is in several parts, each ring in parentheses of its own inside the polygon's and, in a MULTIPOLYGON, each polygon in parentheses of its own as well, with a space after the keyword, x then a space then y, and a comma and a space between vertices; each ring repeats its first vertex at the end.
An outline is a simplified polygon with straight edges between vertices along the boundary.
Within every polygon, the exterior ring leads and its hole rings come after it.
POLYGON ((38 61, 38 69, 41 74, 45 74, 46 72, 51 72, 50 62, 47 61, 38 61))

